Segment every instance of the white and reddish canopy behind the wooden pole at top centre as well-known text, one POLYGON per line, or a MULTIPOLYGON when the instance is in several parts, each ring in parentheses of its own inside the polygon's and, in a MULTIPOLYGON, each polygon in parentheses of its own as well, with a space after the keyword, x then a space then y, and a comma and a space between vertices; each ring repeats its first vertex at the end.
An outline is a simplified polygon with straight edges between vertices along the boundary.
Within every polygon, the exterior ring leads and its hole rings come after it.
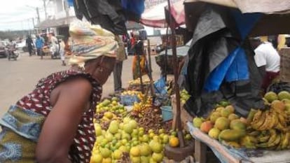
MULTIPOLYGON (((177 25, 185 23, 183 3, 184 1, 179 0, 171 4, 170 15, 172 15, 174 23, 177 25)), ((141 15, 140 22, 149 27, 165 28, 167 27, 165 11, 169 14, 167 2, 147 8, 141 15)))

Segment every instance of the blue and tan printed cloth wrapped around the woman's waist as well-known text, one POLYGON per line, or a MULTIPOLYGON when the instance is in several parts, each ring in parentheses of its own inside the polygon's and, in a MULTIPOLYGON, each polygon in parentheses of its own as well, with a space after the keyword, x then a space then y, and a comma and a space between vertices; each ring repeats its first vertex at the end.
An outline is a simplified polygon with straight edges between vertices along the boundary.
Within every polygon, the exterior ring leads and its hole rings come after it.
POLYGON ((45 117, 11 106, 0 120, 0 162, 35 162, 36 141, 45 117))

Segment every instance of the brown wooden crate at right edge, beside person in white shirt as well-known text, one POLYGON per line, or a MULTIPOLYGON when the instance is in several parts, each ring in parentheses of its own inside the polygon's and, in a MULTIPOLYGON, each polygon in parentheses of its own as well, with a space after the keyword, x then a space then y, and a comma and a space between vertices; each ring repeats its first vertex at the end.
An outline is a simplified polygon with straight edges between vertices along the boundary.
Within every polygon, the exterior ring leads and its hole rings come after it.
POLYGON ((290 83, 290 48, 282 48, 279 50, 281 57, 280 62, 280 80, 290 83))

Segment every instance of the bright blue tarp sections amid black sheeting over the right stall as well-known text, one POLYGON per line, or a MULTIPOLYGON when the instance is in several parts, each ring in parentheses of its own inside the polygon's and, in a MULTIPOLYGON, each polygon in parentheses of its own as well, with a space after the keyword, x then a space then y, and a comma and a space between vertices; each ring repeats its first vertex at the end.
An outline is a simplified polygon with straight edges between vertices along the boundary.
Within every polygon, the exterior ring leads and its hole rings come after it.
MULTIPOLYGON (((261 13, 242 14, 240 11, 233 10, 233 17, 237 30, 239 31, 242 42, 247 38, 249 32, 254 27, 256 22, 261 18, 261 13)), ((205 82, 204 90, 212 92, 219 90, 223 80, 227 82, 237 80, 248 80, 249 69, 247 64, 247 57, 242 47, 237 47, 231 52, 226 59, 217 66, 214 71, 209 74, 205 82)))

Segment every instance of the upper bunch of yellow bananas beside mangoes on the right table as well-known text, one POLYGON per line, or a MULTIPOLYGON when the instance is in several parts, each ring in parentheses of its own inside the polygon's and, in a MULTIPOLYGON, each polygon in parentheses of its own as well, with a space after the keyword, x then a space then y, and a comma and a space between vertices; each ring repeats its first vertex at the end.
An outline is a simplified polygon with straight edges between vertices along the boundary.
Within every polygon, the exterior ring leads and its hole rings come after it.
POLYGON ((251 127, 258 131, 269 129, 278 129, 286 132, 287 115, 286 113, 279 113, 275 109, 267 111, 258 110, 251 121, 251 127))

